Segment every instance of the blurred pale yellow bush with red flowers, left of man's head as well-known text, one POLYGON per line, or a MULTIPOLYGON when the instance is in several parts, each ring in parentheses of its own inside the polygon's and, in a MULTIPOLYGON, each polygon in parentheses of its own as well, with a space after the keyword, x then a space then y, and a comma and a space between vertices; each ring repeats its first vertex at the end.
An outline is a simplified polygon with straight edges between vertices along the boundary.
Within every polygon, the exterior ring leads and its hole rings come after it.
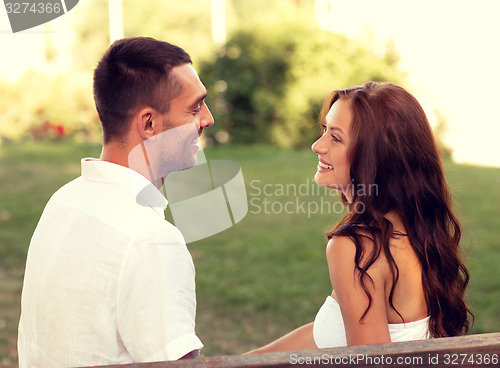
POLYGON ((26 73, 19 82, 3 82, 8 90, 0 101, 4 122, 0 139, 75 138, 100 141, 100 125, 87 73, 42 75, 26 73))

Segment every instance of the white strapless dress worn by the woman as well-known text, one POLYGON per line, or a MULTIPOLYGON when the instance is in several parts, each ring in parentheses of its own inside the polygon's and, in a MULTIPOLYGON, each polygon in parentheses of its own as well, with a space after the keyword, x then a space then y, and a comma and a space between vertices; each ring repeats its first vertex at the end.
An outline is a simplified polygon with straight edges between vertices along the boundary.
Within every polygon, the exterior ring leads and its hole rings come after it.
MULTIPOLYGON (((429 317, 415 322, 389 324, 389 334, 392 342, 429 339, 429 317)), ((340 306, 331 296, 326 298, 316 314, 313 336, 318 348, 347 346, 340 306)))

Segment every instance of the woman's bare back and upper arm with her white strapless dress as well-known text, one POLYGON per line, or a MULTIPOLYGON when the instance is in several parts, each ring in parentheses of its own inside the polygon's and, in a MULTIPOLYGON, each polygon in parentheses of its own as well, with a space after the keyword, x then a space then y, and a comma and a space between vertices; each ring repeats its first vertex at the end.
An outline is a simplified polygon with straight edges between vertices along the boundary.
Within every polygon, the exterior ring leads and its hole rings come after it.
POLYGON ((358 246, 347 236, 334 236, 328 242, 333 292, 315 320, 318 346, 330 338, 342 341, 344 330, 350 345, 391 341, 391 333, 403 339, 430 337, 420 261, 399 217, 389 213, 385 218, 393 227, 386 251, 376 246, 370 231, 357 227, 352 231, 362 239, 358 246), (410 326, 413 331, 407 330, 410 326))

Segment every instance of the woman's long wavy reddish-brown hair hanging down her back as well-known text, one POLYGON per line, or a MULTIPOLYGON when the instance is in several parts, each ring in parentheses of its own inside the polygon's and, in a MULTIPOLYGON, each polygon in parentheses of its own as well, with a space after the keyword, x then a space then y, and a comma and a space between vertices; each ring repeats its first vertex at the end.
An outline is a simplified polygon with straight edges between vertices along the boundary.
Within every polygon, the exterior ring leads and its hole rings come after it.
POLYGON ((347 236, 356 245, 356 268, 369 300, 363 317, 372 304, 366 287, 372 280, 367 271, 383 253, 393 280, 389 303, 402 318, 393 305, 399 270, 389 241, 395 233, 384 217, 394 211, 422 266, 432 336, 467 333, 472 313, 464 301, 469 273, 460 257, 460 224, 452 211, 450 190, 422 107, 399 86, 370 82, 334 91, 323 104, 322 124, 339 99, 350 102, 353 116, 348 160, 354 197, 347 204, 342 195, 348 214, 327 236, 347 236), (363 238, 373 241, 373 252, 364 252, 363 238))

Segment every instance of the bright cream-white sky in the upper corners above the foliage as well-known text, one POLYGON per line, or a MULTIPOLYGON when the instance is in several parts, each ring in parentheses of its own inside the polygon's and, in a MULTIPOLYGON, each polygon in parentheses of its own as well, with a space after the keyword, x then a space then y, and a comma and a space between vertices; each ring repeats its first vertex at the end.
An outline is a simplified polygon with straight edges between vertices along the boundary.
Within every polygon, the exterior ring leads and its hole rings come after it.
MULTIPOLYGON (((316 2, 326 7, 319 19, 324 27, 351 38, 369 30, 381 44, 394 42, 410 92, 431 122, 434 109, 446 118, 444 140, 455 161, 500 167, 500 0, 316 2)), ((0 7, 0 76, 16 80, 26 69, 45 70, 44 33, 67 47, 72 12, 12 34, 0 7)))

